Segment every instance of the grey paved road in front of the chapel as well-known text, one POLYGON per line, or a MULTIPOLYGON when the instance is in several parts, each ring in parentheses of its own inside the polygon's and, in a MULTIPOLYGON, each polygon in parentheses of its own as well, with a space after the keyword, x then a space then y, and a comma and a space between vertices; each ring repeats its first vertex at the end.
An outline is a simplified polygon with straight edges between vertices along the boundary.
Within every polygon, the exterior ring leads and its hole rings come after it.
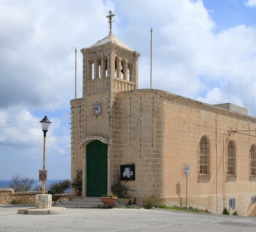
POLYGON ((21 215, 20 208, 0 205, 0 232, 256 232, 256 217, 121 208, 21 215))

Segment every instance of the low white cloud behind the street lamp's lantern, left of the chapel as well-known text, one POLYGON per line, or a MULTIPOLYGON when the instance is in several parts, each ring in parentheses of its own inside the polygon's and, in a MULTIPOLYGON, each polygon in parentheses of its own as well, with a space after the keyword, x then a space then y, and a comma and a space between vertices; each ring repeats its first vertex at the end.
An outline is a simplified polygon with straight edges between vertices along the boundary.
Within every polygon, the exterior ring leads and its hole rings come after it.
MULTIPOLYGON (((0 115, 4 119, 4 123, 0 124, 0 145, 6 149, 13 148, 16 157, 40 157, 43 145, 41 119, 21 107, 1 110, 0 115)), ((59 119, 53 118, 51 121, 53 123, 47 132, 48 155, 55 158, 69 157, 69 133, 66 128, 62 128, 59 119)))

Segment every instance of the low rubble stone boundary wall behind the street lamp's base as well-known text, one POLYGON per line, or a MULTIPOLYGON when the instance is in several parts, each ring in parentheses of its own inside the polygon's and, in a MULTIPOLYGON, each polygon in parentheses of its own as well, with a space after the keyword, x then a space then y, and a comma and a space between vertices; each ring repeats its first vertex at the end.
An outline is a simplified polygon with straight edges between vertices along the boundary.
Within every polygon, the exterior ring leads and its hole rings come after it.
MULTIPOLYGON (((0 204, 10 205, 12 200, 35 204, 35 195, 41 194, 41 191, 14 192, 13 188, 0 188, 0 204)), ((70 193, 62 194, 62 201, 68 200, 70 193)))

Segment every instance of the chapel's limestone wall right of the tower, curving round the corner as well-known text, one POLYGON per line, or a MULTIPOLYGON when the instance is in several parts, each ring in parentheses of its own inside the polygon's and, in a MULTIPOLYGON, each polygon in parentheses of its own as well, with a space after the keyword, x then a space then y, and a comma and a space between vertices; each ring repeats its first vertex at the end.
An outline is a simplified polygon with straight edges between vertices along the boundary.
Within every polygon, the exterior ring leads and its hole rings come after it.
POLYGON ((112 177, 120 172, 120 165, 135 164, 135 181, 125 183, 130 189, 138 190, 141 197, 175 199, 184 206, 185 165, 189 165, 188 206, 221 213, 228 199, 236 198, 232 210, 247 214, 251 196, 256 195, 256 177, 249 175, 255 118, 161 90, 118 93, 118 101, 119 128, 117 135, 112 134, 116 149, 111 151, 117 162, 112 162, 112 177), (198 147, 204 135, 211 141, 209 175, 199 173, 198 147), (237 148, 234 176, 227 175, 230 140, 237 148))

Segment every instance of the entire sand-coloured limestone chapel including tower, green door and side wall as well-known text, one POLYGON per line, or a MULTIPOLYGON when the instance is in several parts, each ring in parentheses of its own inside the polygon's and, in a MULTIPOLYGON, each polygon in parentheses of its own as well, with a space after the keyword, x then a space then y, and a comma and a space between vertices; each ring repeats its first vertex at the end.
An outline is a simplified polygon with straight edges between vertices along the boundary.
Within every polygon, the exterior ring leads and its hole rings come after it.
POLYGON ((111 192, 121 177, 142 198, 185 206, 188 178, 188 206, 250 213, 256 118, 232 104, 138 89, 140 53, 112 33, 81 52, 83 95, 71 100, 71 180, 82 169, 82 197, 111 192))

